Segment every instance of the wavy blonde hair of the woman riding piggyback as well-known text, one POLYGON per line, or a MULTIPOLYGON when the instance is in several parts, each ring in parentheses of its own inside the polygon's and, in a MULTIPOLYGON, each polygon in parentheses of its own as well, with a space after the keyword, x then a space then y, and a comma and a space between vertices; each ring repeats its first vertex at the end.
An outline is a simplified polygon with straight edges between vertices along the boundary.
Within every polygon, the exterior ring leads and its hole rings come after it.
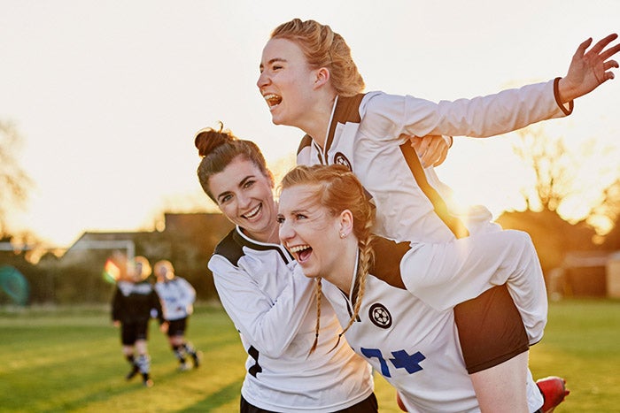
POLYGON ((364 90, 349 45, 331 27, 314 20, 292 19, 275 27, 271 38, 297 43, 310 67, 327 67, 338 96, 355 96, 364 90))

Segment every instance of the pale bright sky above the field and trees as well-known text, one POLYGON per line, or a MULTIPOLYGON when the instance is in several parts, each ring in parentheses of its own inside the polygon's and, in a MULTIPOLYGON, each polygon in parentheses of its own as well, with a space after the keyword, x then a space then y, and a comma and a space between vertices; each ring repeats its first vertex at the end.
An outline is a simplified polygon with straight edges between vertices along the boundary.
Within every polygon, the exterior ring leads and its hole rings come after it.
MULTIPOLYGON (((153 230, 164 210, 213 210, 196 177, 202 127, 221 121, 267 161, 290 158, 303 133, 273 125, 256 87, 284 21, 342 34, 366 90, 433 101, 563 76, 580 42, 620 32, 616 0, 0 0, 0 11, 0 120, 17 128, 35 183, 10 224, 58 247, 85 231, 153 230)), ((620 78, 544 128, 614 153, 619 114, 620 78)), ((518 208, 516 139, 455 138, 439 176, 464 203, 518 208)))

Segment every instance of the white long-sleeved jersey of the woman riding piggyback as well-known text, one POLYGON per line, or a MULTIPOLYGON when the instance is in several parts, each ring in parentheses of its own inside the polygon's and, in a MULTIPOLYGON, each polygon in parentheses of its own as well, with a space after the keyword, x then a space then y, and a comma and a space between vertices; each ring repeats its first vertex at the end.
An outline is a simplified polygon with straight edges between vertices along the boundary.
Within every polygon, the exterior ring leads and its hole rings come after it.
MULTIPOLYGON (((392 240, 443 242, 495 231, 499 226, 490 222, 492 214, 482 206, 469 210, 462 220, 447 210, 442 196, 449 189, 432 167, 422 169, 403 134, 486 137, 568 115, 572 102, 568 109, 559 104, 557 81, 454 102, 383 92, 338 96, 325 147, 306 135, 299 145, 298 164, 344 164, 351 169, 376 205, 374 232, 392 240)), ((508 284, 531 344, 542 338, 546 325, 542 273, 540 277, 531 291, 508 284)))

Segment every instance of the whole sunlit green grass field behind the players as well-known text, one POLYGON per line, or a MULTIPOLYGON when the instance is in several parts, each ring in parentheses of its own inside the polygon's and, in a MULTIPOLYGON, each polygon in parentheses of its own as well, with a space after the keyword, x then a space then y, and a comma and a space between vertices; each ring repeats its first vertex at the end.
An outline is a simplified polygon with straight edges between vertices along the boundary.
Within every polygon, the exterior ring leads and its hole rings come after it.
MULTIPOLYGON (((128 363, 107 308, 0 310, 0 411, 237 411, 245 354, 229 318, 217 306, 198 306, 188 336, 204 363, 179 372, 151 323, 155 386, 144 388, 124 379, 128 363)), ((556 412, 620 412, 619 370, 620 301, 551 303, 531 371, 568 380, 571 394, 556 412)), ((380 377, 376 394, 381 412, 399 411, 380 377)))

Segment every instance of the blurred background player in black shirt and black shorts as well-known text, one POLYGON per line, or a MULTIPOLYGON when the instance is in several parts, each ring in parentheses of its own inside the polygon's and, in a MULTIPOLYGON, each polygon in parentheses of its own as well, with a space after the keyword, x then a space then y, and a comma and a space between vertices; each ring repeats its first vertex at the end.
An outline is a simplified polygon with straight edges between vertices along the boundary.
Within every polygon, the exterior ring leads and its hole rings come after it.
POLYGON ((128 276, 116 284, 112 299, 112 323, 120 326, 122 352, 131 364, 126 379, 142 374, 144 386, 151 387, 153 381, 151 357, 146 342, 148 340, 149 320, 159 317, 164 322, 159 296, 146 279, 151 274, 151 265, 143 256, 136 256, 128 268, 128 276))

